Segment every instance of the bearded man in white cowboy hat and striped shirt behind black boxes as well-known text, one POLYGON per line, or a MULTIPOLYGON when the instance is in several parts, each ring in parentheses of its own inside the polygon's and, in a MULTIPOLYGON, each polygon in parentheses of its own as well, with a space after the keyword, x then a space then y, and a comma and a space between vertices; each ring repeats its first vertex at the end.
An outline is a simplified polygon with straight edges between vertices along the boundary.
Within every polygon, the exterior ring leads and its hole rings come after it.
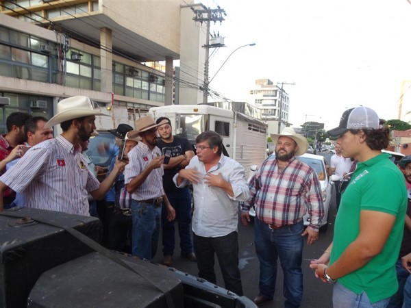
POLYGON ((14 168, 0 177, 0 194, 10 187, 26 193, 27 207, 89 216, 88 192, 101 200, 127 164, 119 161, 115 172, 102 183, 88 170, 79 142, 90 138, 96 116, 103 114, 93 109, 88 97, 60 101, 58 114, 45 128, 60 124, 62 134, 30 148, 14 168))

